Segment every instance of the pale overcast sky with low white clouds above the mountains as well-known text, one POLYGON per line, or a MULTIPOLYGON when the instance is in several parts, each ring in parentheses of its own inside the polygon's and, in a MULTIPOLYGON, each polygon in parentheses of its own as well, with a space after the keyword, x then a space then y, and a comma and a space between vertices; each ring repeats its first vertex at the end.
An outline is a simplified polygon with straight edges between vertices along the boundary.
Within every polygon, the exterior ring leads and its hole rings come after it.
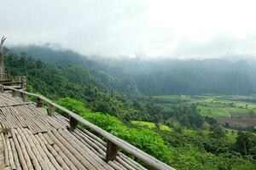
POLYGON ((210 58, 256 54, 256 1, 0 0, 7 45, 80 54, 210 58))

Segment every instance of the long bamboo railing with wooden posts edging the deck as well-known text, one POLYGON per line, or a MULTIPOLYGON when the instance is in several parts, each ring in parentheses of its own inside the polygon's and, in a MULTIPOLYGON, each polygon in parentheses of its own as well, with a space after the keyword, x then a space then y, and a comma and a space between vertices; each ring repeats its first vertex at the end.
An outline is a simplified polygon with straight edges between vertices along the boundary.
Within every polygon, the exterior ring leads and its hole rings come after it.
POLYGON ((73 131, 76 126, 78 125, 78 122, 84 124, 86 127, 89 127, 91 130, 95 131, 96 133, 100 134, 102 137, 108 140, 108 146, 107 146, 107 156, 106 161, 113 161, 116 159, 116 156, 118 154, 118 148, 121 150, 125 150, 127 153, 131 154, 132 156, 137 157, 137 159, 143 161, 148 166, 153 167, 154 169, 158 170, 173 170, 174 168, 166 165, 166 163, 157 160, 153 156, 149 156, 147 153, 143 152, 143 150, 137 149, 132 144, 129 144, 125 142, 125 140, 119 139, 116 136, 114 136, 111 133, 108 133, 104 131, 102 128, 97 127, 91 122, 86 121, 83 117, 77 115, 73 111, 67 110, 65 107, 55 104, 50 99, 45 98, 42 95, 38 94, 32 94, 29 92, 26 92, 24 90, 11 88, 8 86, 4 86, 3 84, 0 84, 0 90, 3 92, 5 89, 11 90, 11 94, 15 96, 16 92, 20 93, 23 101, 27 102, 27 96, 34 96, 38 99, 37 106, 43 107, 44 102, 49 105, 49 116, 54 116, 55 114, 55 108, 64 111, 69 116, 69 123, 70 123, 70 130, 73 131))

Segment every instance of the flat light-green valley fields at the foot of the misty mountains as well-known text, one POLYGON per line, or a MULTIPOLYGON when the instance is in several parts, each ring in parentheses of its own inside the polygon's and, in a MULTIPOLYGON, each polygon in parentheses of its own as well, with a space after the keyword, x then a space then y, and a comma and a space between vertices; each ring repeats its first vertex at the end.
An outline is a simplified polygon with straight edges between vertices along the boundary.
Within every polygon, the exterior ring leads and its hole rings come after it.
POLYGON ((166 95, 154 96, 160 105, 197 105, 201 116, 256 117, 255 96, 237 95, 166 95), (249 102, 250 100, 251 102, 249 102))

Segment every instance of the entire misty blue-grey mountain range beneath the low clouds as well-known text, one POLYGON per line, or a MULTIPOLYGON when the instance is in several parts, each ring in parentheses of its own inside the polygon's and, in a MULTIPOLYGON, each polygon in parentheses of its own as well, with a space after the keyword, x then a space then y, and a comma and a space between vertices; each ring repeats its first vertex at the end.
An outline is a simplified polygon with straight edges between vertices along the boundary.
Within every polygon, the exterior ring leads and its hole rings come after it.
POLYGON ((256 62, 246 59, 90 59, 72 50, 13 47, 52 65, 80 65, 106 88, 125 94, 254 94, 256 62))

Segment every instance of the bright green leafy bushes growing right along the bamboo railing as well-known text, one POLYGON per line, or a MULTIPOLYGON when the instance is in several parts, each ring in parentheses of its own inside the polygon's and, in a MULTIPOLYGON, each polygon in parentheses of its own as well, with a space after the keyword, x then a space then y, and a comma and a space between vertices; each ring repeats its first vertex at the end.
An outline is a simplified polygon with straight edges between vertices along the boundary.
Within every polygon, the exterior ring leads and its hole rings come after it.
POLYGON ((109 133, 113 133, 113 135, 120 139, 124 139, 130 144, 137 146, 137 148, 144 150, 148 154, 158 157, 161 161, 166 161, 167 163, 170 161, 170 151, 158 133, 145 128, 127 127, 114 116, 90 112, 84 108, 83 103, 75 99, 59 99, 56 103, 78 113, 84 119, 94 123, 98 127, 102 127, 109 133))

